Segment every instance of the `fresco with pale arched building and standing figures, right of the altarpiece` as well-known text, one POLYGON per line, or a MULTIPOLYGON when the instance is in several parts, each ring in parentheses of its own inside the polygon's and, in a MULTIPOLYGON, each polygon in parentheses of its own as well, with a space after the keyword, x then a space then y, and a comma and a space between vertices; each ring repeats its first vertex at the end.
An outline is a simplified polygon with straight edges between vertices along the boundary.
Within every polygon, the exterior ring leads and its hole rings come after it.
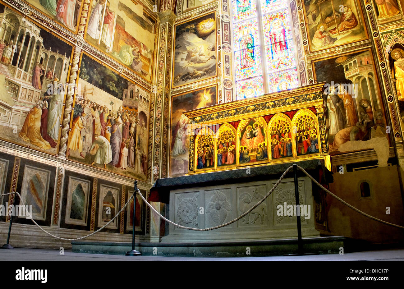
POLYGON ((325 81, 324 106, 330 154, 347 141, 387 137, 386 116, 370 50, 314 61, 317 81, 325 81))

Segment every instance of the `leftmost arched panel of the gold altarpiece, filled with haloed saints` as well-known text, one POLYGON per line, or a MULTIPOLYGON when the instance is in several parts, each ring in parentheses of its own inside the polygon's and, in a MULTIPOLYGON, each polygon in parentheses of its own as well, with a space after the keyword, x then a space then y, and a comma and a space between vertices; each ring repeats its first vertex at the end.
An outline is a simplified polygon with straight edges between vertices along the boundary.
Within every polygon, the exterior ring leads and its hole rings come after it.
POLYGON ((195 139, 196 169, 208 169, 215 166, 215 133, 202 128, 195 139))

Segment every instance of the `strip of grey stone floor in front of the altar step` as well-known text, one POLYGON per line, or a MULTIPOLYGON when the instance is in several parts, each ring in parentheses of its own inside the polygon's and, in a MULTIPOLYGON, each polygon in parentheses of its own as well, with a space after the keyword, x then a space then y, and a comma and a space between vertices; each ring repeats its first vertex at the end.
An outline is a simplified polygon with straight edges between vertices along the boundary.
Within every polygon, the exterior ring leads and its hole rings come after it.
POLYGON ((73 253, 65 250, 60 255, 54 249, 16 248, 0 249, 0 261, 404 261, 404 249, 364 251, 356 253, 307 255, 307 256, 274 256, 274 257, 160 257, 160 256, 118 256, 73 253))

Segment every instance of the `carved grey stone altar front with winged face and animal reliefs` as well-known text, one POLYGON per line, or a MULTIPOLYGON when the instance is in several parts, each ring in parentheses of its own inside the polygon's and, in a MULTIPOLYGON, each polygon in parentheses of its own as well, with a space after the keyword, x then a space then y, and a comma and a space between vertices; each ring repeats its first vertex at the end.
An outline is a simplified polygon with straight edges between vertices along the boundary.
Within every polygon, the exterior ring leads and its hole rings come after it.
MULTIPOLYGON (((240 182, 170 191, 169 219, 192 228, 210 228, 225 224, 248 211, 278 181, 240 182)), ((315 228, 311 180, 299 177, 299 198, 303 237, 319 237, 315 228)), ((198 232, 169 225, 162 242, 270 240, 297 238, 297 217, 293 178, 284 178, 272 194, 251 213, 226 227, 198 232), (289 207, 288 207, 289 205, 289 207), (291 206, 290 206, 291 205, 291 206), (292 209, 290 209, 292 207, 292 209), (289 209, 289 210, 287 210, 289 209)))

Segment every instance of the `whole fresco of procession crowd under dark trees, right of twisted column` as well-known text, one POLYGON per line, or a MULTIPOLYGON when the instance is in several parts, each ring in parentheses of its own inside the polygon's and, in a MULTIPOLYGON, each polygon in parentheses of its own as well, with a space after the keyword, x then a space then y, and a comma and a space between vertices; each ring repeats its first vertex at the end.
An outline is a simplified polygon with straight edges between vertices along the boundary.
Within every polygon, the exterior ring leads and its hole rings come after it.
POLYGON ((67 144, 70 160, 145 179, 149 95, 82 56, 67 144))

